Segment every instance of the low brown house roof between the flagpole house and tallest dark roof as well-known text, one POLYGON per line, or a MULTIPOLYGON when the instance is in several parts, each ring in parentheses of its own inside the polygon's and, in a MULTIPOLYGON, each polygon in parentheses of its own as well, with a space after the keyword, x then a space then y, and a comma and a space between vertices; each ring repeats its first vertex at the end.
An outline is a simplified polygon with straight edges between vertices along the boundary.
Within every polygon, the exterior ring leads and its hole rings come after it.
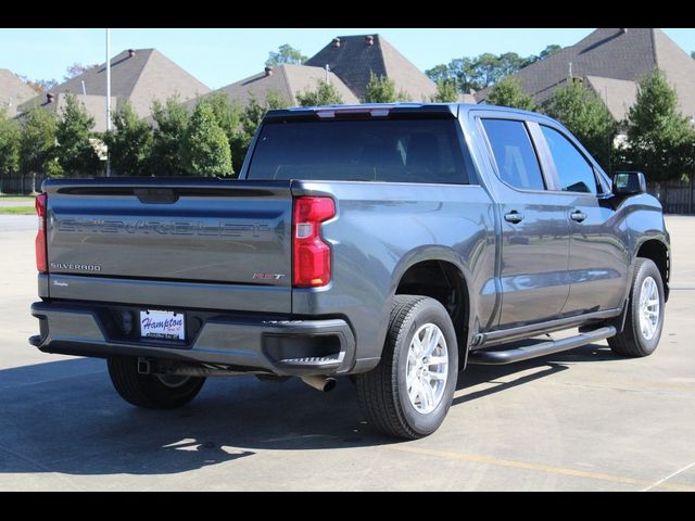
MULTIPOLYGON (((355 94, 336 74, 330 73, 329 78, 330 84, 336 87, 344 103, 358 103, 355 94)), ((214 92, 222 92, 227 96, 229 101, 238 102, 242 106, 249 103, 251 96, 263 101, 268 92, 276 92, 283 97, 290 106, 293 106, 298 104, 298 92, 314 90, 318 81, 325 79, 326 71, 320 67, 281 64, 273 67, 271 74, 265 72, 254 74, 214 92)), ((198 100, 190 100, 187 105, 192 107, 197 102, 198 100)))

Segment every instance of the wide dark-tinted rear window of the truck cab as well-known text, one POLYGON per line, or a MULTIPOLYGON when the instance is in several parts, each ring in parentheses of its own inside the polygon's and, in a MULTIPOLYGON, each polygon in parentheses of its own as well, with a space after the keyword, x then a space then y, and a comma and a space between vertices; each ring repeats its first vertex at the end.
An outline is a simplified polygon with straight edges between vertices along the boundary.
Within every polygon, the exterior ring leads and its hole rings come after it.
POLYGON ((266 123, 248 179, 467 185, 454 119, 266 123))

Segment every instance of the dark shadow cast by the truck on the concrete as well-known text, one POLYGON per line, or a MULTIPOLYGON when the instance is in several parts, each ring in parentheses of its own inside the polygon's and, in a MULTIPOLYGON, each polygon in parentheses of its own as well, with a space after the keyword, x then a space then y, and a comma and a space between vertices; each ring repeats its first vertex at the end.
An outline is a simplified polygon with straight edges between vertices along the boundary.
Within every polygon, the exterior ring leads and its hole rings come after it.
MULTIPOLYGON (((566 364, 607 358, 609 351, 590 345, 513 366, 470 366, 450 415, 477 397, 565 370, 566 364), (466 392, 533 367, 547 369, 466 392)), ((210 379, 193 403, 155 411, 123 402, 103 360, 75 358, 0 370, 0 473, 173 474, 224 462, 233 470, 255 456, 267 458, 263 453, 269 450, 399 443, 366 424, 348 379, 328 394, 295 379, 210 379)))

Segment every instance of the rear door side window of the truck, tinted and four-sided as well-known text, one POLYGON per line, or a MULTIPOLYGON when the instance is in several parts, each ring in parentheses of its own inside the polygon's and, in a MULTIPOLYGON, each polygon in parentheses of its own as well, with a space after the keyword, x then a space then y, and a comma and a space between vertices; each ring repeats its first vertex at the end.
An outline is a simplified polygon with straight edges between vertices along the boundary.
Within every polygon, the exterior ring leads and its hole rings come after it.
POLYGON ((483 119, 500 177, 507 185, 525 190, 545 190, 543 174, 523 122, 483 119))

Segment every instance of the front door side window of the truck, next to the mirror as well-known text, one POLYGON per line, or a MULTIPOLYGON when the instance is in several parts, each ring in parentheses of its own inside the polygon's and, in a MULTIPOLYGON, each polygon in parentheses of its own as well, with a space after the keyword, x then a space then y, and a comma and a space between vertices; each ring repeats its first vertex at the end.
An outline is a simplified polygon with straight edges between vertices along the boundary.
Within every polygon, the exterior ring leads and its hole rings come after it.
POLYGON ((553 162, 560 181, 560 190, 566 192, 596 193, 596 176, 579 150, 554 128, 541 125, 545 141, 553 154, 553 162))

